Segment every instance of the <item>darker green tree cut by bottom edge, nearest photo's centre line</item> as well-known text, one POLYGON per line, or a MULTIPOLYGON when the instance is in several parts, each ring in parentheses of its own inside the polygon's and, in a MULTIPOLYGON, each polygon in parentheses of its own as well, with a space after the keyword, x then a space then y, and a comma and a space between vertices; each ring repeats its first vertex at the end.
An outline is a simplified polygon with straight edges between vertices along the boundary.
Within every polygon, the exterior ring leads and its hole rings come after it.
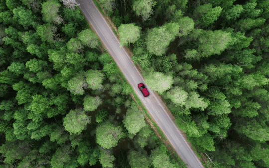
POLYGON ((144 149, 139 151, 129 150, 127 159, 131 168, 150 168, 151 166, 147 152, 144 149))

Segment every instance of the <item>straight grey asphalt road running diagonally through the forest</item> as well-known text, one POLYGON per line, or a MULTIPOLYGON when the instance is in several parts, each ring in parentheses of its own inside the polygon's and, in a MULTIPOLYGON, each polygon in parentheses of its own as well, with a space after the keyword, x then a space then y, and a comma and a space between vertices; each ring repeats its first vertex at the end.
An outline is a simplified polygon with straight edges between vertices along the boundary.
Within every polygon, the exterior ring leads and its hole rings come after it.
POLYGON ((188 168, 203 168, 198 157, 192 151, 189 144, 179 132, 177 126, 166 113, 162 103, 157 99, 156 95, 148 86, 147 89, 150 95, 146 98, 143 97, 137 87, 139 83, 144 83, 143 77, 132 64, 133 61, 130 59, 124 48, 119 47, 120 43, 118 39, 102 17, 102 14, 99 13, 94 2, 92 0, 77 0, 77 2, 80 4, 79 7, 81 8, 82 13, 94 27, 98 36, 101 38, 100 40, 105 44, 108 52, 124 74, 128 83, 133 87, 134 92, 147 111, 151 114, 163 134, 168 138, 180 158, 185 162, 188 168))

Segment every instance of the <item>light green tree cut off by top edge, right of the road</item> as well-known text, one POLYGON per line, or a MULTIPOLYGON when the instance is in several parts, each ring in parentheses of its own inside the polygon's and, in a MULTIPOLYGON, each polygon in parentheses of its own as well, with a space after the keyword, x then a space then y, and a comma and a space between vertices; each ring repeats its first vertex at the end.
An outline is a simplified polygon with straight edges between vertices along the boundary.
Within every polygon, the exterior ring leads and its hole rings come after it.
POLYGON ((142 16, 142 21, 144 22, 149 19, 151 14, 153 14, 152 8, 156 4, 157 2, 153 0, 138 0, 134 2, 132 9, 138 17, 142 16))

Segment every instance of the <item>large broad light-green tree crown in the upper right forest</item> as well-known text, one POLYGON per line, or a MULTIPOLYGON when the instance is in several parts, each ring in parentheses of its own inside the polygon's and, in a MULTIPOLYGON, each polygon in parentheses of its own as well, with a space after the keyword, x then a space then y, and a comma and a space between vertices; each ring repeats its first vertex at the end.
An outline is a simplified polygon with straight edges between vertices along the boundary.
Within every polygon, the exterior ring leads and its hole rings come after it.
MULTIPOLYGON (((198 47, 198 52, 201 53, 199 57, 208 57, 213 54, 220 55, 224 49, 229 46, 229 42, 232 40, 231 33, 226 31, 216 30, 207 31, 200 38, 200 45, 198 47)), ((198 60, 200 58, 197 58, 198 60)))

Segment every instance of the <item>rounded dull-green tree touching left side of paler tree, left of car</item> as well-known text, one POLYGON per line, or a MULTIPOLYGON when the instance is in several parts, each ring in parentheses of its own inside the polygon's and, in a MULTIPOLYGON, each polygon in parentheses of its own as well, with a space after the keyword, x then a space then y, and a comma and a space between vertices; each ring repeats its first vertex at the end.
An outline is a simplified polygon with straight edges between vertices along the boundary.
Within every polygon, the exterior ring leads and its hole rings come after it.
POLYGON ((83 95, 84 94, 84 89, 87 88, 87 82, 85 80, 85 73, 84 72, 79 72, 77 75, 73 78, 71 78, 68 81, 68 87, 71 93, 75 95, 83 95))

